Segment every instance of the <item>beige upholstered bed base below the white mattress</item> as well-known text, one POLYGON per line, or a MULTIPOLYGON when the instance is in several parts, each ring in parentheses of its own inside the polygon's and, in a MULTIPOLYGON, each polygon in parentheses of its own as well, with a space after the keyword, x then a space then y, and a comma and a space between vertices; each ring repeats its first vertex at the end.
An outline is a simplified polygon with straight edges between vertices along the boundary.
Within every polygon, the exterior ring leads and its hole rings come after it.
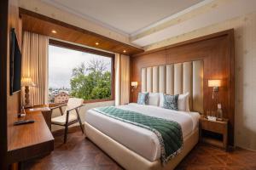
POLYGON ((183 160, 190 150, 192 150, 195 144, 198 143, 199 131, 195 129, 190 135, 183 139, 182 152, 168 161, 166 165, 162 165, 160 159, 157 161, 148 161, 143 156, 139 156, 133 150, 129 150, 123 144, 119 144, 117 141, 108 137, 108 135, 92 127, 89 123, 84 122, 85 134, 93 143, 104 150, 108 156, 117 161, 120 166, 125 169, 133 170, 170 170, 174 169, 177 164, 183 160))

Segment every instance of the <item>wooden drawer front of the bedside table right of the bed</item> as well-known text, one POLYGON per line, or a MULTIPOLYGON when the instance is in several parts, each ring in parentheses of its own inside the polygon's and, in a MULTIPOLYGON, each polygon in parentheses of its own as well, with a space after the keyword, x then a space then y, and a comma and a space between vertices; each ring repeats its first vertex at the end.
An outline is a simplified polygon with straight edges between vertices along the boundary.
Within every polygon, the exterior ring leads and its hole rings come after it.
POLYGON ((221 122, 201 121, 200 126, 201 129, 214 133, 225 133, 227 124, 221 122))

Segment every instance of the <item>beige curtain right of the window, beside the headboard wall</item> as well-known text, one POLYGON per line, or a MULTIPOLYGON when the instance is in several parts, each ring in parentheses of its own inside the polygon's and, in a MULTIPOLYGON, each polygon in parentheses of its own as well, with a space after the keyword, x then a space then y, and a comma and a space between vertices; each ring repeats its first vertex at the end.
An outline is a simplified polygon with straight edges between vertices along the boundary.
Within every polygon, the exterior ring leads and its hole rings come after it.
POLYGON ((115 105, 125 105, 130 101, 130 57, 115 55, 115 105))

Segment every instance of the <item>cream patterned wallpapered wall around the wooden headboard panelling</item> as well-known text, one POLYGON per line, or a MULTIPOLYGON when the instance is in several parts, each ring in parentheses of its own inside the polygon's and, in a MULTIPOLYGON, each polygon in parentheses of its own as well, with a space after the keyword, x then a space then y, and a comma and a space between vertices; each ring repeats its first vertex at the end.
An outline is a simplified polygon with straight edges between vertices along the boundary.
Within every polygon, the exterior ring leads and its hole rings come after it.
POLYGON ((235 144, 256 150, 256 12, 150 45, 150 49, 235 29, 235 144))

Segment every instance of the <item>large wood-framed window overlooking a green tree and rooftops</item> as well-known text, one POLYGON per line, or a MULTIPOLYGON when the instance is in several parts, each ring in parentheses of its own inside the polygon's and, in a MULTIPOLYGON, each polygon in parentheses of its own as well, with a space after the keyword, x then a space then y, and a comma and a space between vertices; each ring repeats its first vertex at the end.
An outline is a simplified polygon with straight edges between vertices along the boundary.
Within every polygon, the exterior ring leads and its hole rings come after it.
POLYGON ((113 99, 113 84, 113 54, 50 41, 49 103, 69 97, 85 102, 113 99))

